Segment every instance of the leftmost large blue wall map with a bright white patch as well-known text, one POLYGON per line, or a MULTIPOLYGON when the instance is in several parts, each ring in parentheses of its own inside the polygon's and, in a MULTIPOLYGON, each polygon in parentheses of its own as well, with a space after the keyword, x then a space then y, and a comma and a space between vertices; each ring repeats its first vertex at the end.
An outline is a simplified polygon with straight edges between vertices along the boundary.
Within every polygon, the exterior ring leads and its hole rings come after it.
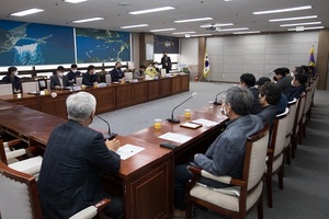
POLYGON ((0 21, 0 66, 75 62, 73 28, 0 21))

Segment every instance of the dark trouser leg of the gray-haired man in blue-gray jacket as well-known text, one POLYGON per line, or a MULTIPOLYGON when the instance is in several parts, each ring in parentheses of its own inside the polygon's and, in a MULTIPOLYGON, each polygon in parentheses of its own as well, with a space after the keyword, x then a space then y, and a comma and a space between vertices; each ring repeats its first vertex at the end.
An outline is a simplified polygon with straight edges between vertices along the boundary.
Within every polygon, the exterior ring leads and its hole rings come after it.
POLYGON ((174 170, 174 207, 181 210, 185 209, 185 184, 193 178, 188 171, 188 165, 177 165, 174 170))

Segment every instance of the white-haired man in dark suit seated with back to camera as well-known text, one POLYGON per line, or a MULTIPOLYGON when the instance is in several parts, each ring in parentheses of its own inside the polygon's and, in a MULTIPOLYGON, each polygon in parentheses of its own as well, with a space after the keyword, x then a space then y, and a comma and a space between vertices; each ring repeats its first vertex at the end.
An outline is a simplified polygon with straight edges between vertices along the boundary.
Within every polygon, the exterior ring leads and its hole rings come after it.
POLYGON ((123 214, 121 198, 103 189, 100 172, 117 173, 120 141, 103 140, 103 135, 88 126, 92 123, 97 101, 87 92, 68 96, 68 122, 54 128, 44 153, 38 178, 44 218, 69 218, 107 197, 103 212, 111 218, 123 214))

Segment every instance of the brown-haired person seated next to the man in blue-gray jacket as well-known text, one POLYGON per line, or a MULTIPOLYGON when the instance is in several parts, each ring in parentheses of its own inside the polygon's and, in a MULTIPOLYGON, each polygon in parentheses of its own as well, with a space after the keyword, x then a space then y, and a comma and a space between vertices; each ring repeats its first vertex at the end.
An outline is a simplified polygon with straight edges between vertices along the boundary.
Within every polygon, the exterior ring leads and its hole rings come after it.
POLYGON ((262 111, 257 115, 262 119, 263 124, 272 124, 277 112, 277 104, 281 99, 281 88, 276 83, 266 82, 262 85, 259 93, 259 103, 263 106, 262 111))

